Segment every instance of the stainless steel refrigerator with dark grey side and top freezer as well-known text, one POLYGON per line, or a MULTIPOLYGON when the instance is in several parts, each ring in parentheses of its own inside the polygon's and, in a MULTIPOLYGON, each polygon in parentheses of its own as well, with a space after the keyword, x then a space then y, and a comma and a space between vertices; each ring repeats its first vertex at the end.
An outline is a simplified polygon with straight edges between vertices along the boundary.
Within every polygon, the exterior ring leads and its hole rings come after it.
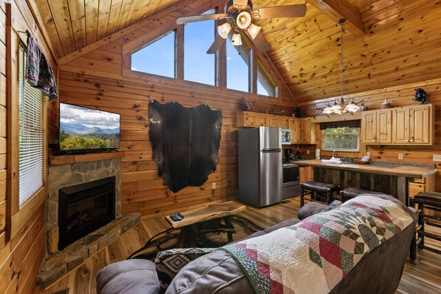
POLYGON ((238 199, 256 207, 283 200, 280 127, 238 131, 238 199))

